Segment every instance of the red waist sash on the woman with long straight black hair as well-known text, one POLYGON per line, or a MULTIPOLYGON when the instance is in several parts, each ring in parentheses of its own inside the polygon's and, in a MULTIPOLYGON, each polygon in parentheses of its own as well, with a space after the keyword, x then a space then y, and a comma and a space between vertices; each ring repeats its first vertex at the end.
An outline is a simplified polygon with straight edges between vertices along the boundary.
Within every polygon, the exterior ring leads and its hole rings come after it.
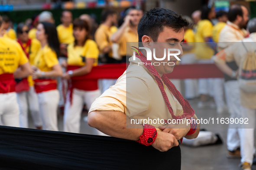
POLYGON ((57 89, 57 81, 55 79, 35 79, 34 82, 36 93, 57 89))

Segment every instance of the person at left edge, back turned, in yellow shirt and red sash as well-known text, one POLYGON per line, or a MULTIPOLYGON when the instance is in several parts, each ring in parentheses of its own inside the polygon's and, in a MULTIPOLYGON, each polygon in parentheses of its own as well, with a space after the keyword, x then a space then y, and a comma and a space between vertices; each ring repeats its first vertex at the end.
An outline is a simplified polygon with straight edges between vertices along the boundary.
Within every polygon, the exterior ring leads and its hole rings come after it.
MULTIPOLYGON (((0 16, 0 32, 3 29, 0 16)), ((0 119, 4 126, 19 127, 19 105, 14 78, 29 76, 32 74, 32 68, 16 41, 0 35, 0 47, 0 119)))

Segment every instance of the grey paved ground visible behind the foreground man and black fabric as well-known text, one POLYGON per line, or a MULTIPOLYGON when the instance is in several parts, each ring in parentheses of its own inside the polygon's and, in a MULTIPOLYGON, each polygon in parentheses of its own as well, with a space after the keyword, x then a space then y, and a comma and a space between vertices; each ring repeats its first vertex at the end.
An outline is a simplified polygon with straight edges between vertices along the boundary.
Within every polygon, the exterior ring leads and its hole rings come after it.
MULTIPOLYGON (((228 113, 218 115, 215 109, 198 109, 198 99, 190 100, 189 102, 198 118, 229 116, 228 113)), ((82 118, 84 116, 87 116, 87 113, 82 113, 82 118)), ((62 126, 63 116, 59 115, 58 128, 60 131, 63 129, 62 126)), ((34 128, 31 117, 29 117, 29 128, 34 128)), ((223 144, 197 148, 191 148, 181 144, 181 170, 239 170, 238 165, 240 164, 240 159, 228 159, 226 157, 227 125, 214 126, 214 128, 210 129, 209 126, 202 125, 201 128, 220 134, 223 144)), ((95 131, 81 119, 81 133, 94 134, 95 131)), ((256 165, 253 165, 252 170, 256 170, 256 165)))

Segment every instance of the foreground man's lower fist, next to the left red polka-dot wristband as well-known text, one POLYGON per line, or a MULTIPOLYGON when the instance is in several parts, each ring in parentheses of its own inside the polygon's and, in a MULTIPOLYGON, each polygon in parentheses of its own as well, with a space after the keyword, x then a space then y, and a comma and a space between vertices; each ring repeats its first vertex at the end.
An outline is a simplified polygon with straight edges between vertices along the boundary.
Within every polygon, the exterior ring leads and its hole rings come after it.
POLYGON ((166 132, 157 131, 156 141, 152 144, 157 150, 164 152, 174 146, 178 146, 178 141, 174 135, 166 132))

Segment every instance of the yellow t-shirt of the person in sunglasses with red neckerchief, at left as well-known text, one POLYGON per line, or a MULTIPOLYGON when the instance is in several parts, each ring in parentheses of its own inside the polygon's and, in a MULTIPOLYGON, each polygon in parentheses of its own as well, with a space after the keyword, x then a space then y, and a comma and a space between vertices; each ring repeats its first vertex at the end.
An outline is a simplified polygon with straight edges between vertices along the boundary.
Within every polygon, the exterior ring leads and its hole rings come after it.
MULTIPOLYGON (((25 48, 26 44, 22 44, 22 46, 25 48)), ((36 57, 37 52, 40 50, 41 44, 38 40, 32 39, 30 47, 26 47, 25 50, 27 53, 29 53, 29 63, 30 65, 34 65, 34 59, 36 57)), ((28 77, 29 86, 34 85, 34 81, 32 80, 32 76, 28 77)))

